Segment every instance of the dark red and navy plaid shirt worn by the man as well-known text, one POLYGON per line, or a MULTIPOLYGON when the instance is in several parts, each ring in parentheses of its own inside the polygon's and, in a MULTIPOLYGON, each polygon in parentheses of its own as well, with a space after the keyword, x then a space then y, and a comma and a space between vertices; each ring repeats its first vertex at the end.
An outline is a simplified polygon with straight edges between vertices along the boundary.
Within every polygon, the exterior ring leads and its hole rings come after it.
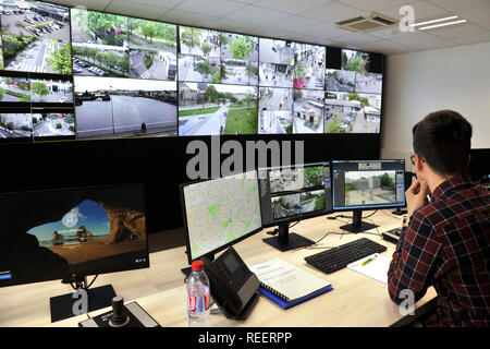
POLYGON ((388 272, 390 298, 411 289, 418 301, 433 286, 437 314, 427 325, 490 325, 490 195, 469 177, 454 177, 414 212, 388 272))

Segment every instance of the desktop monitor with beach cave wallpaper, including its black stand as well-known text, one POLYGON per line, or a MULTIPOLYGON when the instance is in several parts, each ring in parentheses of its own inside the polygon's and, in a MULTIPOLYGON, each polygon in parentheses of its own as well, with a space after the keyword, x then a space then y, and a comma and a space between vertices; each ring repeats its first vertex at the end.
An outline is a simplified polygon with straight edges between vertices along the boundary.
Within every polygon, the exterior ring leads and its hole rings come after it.
MULTIPOLYGON (((0 194, 0 287, 62 279, 87 290, 88 311, 112 286, 86 277, 149 267, 143 184, 0 194)), ((51 298, 51 320, 73 316, 72 294, 51 298)))

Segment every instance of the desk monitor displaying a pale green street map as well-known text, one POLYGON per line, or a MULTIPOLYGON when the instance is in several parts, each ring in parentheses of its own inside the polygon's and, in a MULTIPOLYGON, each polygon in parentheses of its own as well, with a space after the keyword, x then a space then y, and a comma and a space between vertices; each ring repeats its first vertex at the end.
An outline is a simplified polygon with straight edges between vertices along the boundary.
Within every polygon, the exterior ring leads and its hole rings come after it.
POLYGON ((256 171, 181 185, 188 262, 259 231, 256 171))

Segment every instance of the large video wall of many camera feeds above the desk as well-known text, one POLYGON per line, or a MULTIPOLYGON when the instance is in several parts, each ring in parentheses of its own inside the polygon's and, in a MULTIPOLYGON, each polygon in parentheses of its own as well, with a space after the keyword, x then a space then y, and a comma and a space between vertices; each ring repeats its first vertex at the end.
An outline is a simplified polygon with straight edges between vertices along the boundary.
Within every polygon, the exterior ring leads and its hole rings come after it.
POLYGON ((40 1, 0 21, 0 142, 380 132, 366 52, 40 1))

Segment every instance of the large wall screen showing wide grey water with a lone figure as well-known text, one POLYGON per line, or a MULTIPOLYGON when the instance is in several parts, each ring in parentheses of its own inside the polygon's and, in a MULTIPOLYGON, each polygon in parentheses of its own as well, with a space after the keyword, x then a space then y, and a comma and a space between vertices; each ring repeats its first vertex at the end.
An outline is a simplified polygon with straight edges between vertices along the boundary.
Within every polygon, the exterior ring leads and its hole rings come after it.
POLYGON ((75 76, 78 139, 176 135, 176 83, 75 76))

